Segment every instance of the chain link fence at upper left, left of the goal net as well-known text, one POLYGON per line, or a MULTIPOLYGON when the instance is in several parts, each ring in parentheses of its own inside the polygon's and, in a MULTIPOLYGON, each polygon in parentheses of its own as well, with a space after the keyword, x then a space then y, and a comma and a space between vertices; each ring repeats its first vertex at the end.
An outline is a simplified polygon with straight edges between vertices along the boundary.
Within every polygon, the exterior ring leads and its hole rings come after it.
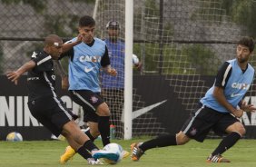
POLYGON ((0 74, 16 69, 42 49, 44 37, 77 34, 81 15, 92 15, 94 1, 2 0, 0 1, 0 74))

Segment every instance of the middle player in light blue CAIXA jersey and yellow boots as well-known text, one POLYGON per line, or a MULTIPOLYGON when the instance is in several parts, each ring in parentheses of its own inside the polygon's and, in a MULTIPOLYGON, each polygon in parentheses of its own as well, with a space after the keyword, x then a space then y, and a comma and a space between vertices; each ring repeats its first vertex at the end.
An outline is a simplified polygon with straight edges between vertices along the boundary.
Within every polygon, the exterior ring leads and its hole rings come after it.
MULTIPOLYGON (((84 109, 84 120, 90 127, 85 133, 91 141, 101 134, 105 146, 110 143, 110 110, 100 95, 98 76, 102 67, 106 74, 115 76, 117 72, 111 67, 106 44, 94 37, 94 18, 89 15, 81 17, 78 31, 81 38, 75 37, 64 44, 66 53, 61 58, 69 56, 69 92, 73 101, 84 109)), ((61 156, 61 163, 67 162, 74 153, 68 146, 61 156)))

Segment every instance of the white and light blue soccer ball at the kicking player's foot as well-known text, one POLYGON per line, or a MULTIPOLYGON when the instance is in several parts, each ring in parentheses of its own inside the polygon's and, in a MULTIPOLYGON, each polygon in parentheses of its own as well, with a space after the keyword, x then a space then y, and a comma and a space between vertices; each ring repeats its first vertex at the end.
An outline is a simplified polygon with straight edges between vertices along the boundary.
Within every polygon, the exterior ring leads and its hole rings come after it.
POLYGON ((116 160, 112 161, 104 159, 104 162, 107 162, 109 164, 116 164, 117 162, 120 162, 123 159, 123 147, 118 143, 109 143, 104 146, 103 150, 113 152, 118 155, 118 158, 116 160))

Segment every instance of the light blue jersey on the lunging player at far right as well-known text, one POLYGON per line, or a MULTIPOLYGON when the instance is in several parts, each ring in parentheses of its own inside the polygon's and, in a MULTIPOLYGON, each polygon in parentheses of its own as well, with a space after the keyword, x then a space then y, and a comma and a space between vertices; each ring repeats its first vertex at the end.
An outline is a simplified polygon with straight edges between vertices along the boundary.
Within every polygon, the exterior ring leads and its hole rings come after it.
MULTIPOLYGON (((224 95, 229 103, 236 108, 238 103, 241 102, 243 96, 250 88, 250 85, 253 81, 254 69, 251 64, 248 64, 248 67, 245 72, 242 72, 240 66, 238 65, 237 59, 232 59, 227 61, 227 65, 222 72, 222 81, 219 81, 224 89, 224 95), (230 74, 230 75, 228 75, 230 74)), ((216 78, 218 79, 218 78, 216 78)), ((213 97, 213 89, 216 84, 213 84, 212 88, 210 88, 205 96, 201 99, 201 103, 206 105, 213 110, 220 113, 229 113, 229 111, 222 106, 222 104, 218 103, 217 100, 213 97)))

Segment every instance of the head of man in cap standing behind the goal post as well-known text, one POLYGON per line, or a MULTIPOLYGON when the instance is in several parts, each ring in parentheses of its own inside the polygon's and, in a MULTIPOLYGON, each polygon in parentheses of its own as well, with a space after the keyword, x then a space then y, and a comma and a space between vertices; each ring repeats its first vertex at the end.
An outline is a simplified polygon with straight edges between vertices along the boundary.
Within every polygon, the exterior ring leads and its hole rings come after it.
POLYGON ((117 21, 109 21, 106 25, 110 40, 116 41, 119 35, 120 24, 117 21))

